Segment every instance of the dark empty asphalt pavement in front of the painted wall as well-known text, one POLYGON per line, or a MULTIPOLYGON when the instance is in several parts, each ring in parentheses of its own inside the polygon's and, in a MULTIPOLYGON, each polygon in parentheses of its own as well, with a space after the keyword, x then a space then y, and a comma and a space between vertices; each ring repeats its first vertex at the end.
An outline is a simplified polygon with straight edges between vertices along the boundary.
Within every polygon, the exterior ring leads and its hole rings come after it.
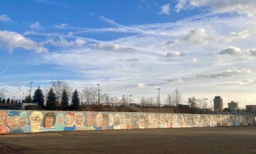
POLYGON ((256 153, 256 126, 0 135, 0 153, 256 153))

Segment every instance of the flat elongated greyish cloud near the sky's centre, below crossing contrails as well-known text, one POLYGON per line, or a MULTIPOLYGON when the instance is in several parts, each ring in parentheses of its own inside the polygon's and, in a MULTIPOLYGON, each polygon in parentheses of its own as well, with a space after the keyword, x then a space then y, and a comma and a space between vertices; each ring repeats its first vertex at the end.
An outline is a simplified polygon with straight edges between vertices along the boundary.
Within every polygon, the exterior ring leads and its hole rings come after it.
POLYGON ((135 49, 131 47, 122 47, 119 44, 108 44, 108 43, 99 43, 94 45, 95 49, 103 50, 103 51, 115 51, 118 53, 133 53, 135 49))

